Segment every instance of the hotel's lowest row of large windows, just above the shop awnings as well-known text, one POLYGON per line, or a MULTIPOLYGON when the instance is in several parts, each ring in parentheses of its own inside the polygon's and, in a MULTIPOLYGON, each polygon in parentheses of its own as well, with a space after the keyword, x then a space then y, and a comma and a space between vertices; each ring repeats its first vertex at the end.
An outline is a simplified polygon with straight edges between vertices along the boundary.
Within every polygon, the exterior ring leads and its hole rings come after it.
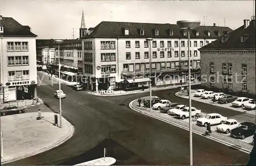
MULTIPOLYGON (((193 61, 191 62, 191 66, 200 67, 200 61, 193 61)), ((181 61, 181 65, 188 66, 188 61, 181 61)), ((151 64, 152 70, 169 70, 169 69, 176 69, 179 68, 179 61, 174 62, 157 62, 151 64)), ((150 70, 150 63, 138 63, 138 64, 123 64, 123 72, 134 72, 134 71, 149 71, 150 70)))

